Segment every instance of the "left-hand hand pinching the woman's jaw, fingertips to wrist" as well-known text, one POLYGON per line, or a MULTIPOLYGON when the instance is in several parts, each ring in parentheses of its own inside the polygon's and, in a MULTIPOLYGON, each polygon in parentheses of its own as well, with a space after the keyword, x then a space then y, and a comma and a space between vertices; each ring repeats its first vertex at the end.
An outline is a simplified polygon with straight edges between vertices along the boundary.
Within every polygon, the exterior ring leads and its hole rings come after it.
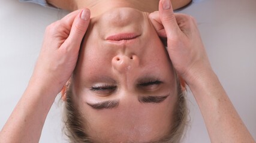
MULTIPOLYGON (((34 73, 33 85, 58 94, 76 67, 90 11, 77 10, 47 27, 34 73)), ((30 83, 31 83, 30 82, 30 83)))

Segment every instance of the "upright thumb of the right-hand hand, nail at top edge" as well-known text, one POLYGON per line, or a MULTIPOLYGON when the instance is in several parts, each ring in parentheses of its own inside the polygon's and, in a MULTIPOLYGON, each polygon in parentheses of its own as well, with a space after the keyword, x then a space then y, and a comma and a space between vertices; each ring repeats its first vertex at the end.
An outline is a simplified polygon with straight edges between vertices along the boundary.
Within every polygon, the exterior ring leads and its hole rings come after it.
POLYGON ((164 26, 167 38, 177 36, 180 29, 177 25, 176 17, 173 13, 170 0, 159 1, 159 17, 162 21, 162 25, 164 26))

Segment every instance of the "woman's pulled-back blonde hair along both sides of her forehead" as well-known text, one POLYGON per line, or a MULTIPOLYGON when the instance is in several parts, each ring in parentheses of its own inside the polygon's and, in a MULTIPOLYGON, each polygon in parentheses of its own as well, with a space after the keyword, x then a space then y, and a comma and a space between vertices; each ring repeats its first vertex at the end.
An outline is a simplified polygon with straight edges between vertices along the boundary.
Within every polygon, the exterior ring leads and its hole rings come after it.
MULTIPOLYGON (((156 143, 168 142, 168 143, 179 143, 182 139, 187 118, 188 118, 188 108, 186 105, 185 91, 182 91, 180 86, 179 77, 177 79, 177 93, 178 98, 176 102, 176 111, 173 114, 173 123, 170 133, 165 135, 164 138, 153 141, 156 143)), ((66 102, 65 102, 65 113, 64 113, 64 129, 65 134, 70 139, 70 142, 92 142, 92 139, 88 136, 86 132, 86 119, 82 117, 77 105, 73 101, 73 94, 71 90, 71 85, 67 86, 67 92, 65 92, 66 102)))

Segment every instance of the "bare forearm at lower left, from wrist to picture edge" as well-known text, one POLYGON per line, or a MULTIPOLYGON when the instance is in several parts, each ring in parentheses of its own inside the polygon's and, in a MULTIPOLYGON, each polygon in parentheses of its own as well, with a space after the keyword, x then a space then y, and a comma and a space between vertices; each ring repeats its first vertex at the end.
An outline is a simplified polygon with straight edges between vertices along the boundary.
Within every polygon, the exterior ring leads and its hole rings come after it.
POLYGON ((0 133, 1 142, 38 142, 56 95, 31 81, 0 133))

